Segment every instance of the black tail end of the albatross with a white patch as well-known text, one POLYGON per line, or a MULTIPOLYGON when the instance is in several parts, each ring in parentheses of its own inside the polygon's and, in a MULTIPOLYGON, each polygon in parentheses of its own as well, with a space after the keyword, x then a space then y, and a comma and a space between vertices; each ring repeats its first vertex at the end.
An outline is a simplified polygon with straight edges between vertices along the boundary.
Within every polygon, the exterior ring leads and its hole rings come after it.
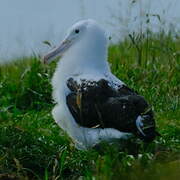
POLYGON ((155 130, 154 118, 149 115, 140 115, 136 119, 137 135, 145 142, 151 142, 159 133, 155 130))

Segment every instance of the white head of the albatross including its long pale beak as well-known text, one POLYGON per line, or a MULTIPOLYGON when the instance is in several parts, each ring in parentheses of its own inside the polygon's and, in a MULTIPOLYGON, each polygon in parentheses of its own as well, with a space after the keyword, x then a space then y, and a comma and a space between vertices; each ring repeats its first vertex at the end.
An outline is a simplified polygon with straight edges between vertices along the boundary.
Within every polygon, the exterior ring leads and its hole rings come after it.
MULTIPOLYGON (((92 19, 75 23, 58 47, 43 57, 49 63, 58 56, 87 61, 106 61, 107 38, 105 31, 92 19)), ((65 58, 64 58, 65 59, 65 58)), ((96 62, 97 63, 97 62, 96 62)))

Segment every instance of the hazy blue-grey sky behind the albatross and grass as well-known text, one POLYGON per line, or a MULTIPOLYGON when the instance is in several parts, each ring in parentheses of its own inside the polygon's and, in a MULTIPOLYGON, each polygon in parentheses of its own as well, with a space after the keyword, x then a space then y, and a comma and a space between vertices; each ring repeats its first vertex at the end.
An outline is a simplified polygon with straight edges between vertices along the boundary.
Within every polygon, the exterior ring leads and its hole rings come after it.
POLYGON ((179 0, 0 0, 0 62, 41 55, 57 45, 66 29, 80 19, 97 20, 117 42, 138 31, 146 13, 154 30, 180 26, 179 0), (138 19, 138 20, 137 20, 138 19))

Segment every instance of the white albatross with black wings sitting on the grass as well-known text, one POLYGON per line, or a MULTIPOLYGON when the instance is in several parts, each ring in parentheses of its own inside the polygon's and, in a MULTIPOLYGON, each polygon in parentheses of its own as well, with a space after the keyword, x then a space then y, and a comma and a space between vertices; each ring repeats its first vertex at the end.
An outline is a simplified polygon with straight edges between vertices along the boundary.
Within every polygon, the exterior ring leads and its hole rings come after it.
POLYGON ((52 115, 77 148, 131 136, 147 142, 155 138, 149 104, 111 73, 107 36, 96 21, 75 23, 42 60, 50 63, 56 57, 61 59, 52 78, 52 115))

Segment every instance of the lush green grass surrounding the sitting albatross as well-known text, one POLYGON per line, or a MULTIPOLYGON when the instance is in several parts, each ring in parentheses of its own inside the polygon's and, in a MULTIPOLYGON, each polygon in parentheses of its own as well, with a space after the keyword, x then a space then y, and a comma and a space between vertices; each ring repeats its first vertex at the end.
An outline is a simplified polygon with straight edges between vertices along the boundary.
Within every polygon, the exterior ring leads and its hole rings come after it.
POLYGON ((75 149, 51 116, 55 64, 24 58, 0 66, 0 179, 178 179, 180 41, 153 35, 138 46, 112 45, 111 69, 152 105, 162 137, 75 149))

